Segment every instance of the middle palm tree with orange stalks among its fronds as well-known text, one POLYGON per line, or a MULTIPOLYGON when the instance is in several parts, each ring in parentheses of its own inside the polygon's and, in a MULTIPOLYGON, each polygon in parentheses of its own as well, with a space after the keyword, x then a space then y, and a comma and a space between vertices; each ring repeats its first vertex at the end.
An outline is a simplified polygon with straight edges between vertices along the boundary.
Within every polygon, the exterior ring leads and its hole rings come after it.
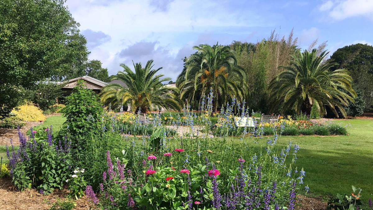
POLYGON ((231 98, 242 101, 245 93, 245 71, 237 66, 235 53, 229 46, 194 46, 198 50, 185 59, 185 68, 176 80, 180 97, 188 103, 198 101, 212 89, 214 109, 231 98))

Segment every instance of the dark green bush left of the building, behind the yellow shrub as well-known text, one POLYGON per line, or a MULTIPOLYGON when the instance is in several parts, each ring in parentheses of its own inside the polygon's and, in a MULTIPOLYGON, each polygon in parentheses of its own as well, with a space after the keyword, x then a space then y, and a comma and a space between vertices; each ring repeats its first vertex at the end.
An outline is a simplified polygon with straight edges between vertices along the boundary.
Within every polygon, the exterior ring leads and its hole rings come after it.
POLYGON ((33 87, 29 99, 41 110, 46 111, 57 104, 57 99, 62 98, 62 87, 65 84, 56 84, 50 81, 40 81, 33 87))

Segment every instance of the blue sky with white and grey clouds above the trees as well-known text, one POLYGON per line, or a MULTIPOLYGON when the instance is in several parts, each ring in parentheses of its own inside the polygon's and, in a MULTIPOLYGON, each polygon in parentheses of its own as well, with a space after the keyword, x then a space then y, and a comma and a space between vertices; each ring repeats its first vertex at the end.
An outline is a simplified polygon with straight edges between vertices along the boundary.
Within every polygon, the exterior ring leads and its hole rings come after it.
POLYGON ((150 59, 173 81, 199 44, 257 43, 294 29, 298 46, 327 50, 373 43, 373 0, 67 0, 87 38, 89 59, 109 75, 150 59))

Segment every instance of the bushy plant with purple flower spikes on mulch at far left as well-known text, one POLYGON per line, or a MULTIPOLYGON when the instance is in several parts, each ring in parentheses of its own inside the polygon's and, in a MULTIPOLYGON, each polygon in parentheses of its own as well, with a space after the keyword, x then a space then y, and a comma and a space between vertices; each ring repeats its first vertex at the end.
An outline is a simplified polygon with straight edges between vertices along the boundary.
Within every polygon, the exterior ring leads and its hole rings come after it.
POLYGON ((9 159, 10 175, 14 185, 20 189, 36 188, 48 194, 53 189, 62 189, 69 175, 71 165, 70 143, 65 140, 56 142, 52 130, 31 130, 31 138, 21 132, 19 149, 6 148, 9 159))

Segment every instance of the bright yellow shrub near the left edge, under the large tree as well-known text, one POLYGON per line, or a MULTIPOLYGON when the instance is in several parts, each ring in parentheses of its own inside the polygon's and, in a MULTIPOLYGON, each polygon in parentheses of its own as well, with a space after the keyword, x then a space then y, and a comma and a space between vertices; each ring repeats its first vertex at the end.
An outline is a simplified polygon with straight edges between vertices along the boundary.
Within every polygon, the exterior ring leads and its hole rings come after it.
POLYGON ((18 110, 13 109, 12 112, 22 121, 46 120, 46 116, 44 116, 43 111, 32 104, 18 106, 18 110))

